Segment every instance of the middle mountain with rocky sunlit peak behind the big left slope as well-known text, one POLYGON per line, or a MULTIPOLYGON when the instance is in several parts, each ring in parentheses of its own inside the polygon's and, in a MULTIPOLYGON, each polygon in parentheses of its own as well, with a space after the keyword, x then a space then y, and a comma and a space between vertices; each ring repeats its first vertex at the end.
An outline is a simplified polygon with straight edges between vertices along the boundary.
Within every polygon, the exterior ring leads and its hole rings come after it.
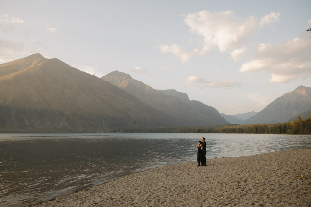
POLYGON ((229 124, 215 108, 199 101, 190 101, 185 93, 153 89, 118 70, 101 77, 101 79, 122 88, 152 108, 174 117, 179 125, 229 124))

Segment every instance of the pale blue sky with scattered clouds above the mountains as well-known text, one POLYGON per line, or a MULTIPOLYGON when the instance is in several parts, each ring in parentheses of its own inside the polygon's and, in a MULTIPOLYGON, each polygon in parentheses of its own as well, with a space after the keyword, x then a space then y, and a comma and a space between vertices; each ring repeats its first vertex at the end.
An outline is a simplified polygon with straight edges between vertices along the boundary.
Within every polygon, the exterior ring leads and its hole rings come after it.
POLYGON ((311 87, 311 1, 0 0, 0 64, 40 53, 235 115, 311 87))

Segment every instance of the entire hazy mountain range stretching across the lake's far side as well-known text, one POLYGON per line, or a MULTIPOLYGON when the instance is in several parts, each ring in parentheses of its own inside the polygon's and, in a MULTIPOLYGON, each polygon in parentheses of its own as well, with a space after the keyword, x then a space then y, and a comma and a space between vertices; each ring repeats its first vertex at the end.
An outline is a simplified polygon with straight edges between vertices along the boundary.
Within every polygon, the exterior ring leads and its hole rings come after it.
POLYGON ((157 90, 117 70, 98 78, 40 54, 0 64, 0 132, 117 132, 122 129, 283 123, 311 116, 299 86, 260 112, 220 114, 174 89, 157 90))

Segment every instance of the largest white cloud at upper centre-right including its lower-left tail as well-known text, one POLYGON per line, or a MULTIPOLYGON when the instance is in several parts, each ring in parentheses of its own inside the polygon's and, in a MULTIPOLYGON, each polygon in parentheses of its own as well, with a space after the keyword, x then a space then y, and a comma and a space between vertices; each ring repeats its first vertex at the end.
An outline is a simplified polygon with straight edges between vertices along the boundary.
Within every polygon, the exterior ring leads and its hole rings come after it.
POLYGON ((191 28, 193 34, 203 38, 202 48, 187 52, 179 45, 161 45, 162 53, 172 53, 186 62, 192 56, 203 56, 217 46, 220 52, 231 50, 234 61, 241 60, 248 52, 244 41, 258 28, 259 21, 253 16, 239 18, 233 11, 209 12, 199 11, 185 16, 185 24, 191 28))

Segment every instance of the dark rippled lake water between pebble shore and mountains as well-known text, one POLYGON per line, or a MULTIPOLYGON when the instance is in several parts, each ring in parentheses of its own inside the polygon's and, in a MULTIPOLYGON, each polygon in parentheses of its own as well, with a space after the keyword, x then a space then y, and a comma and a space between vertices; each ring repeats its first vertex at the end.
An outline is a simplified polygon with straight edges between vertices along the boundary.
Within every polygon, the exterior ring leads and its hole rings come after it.
POLYGON ((142 170, 197 159, 311 148, 309 135, 0 134, 0 203, 25 206, 142 170))

